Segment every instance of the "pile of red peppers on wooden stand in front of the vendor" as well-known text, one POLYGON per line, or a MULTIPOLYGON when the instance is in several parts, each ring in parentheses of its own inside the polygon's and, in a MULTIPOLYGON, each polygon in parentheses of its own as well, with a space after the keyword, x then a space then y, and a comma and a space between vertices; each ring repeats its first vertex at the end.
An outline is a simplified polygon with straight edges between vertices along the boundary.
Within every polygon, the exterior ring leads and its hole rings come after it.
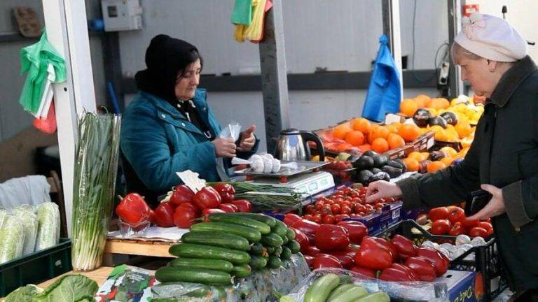
POLYGON ((187 229, 202 216, 212 213, 250 212, 251 203, 246 199, 235 200, 235 189, 226 183, 203 187, 194 193, 186 185, 174 187, 168 201, 161 202, 151 210, 144 198, 131 193, 121 199, 116 214, 132 227, 151 221, 158 227, 180 227, 187 229))

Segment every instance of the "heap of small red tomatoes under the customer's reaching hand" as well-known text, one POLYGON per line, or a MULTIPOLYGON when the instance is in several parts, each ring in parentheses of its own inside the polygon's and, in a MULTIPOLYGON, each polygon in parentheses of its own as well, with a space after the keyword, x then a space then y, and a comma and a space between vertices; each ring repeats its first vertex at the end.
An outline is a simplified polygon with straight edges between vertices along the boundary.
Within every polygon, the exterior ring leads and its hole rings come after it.
POLYGON ((345 187, 336 190, 330 196, 319 197, 315 203, 306 206, 307 214, 303 215, 303 218, 318 224, 336 224, 345 218, 370 215, 394 201, 396 199, 387 198, 366 203, 366 187, 360 189, 345 187))

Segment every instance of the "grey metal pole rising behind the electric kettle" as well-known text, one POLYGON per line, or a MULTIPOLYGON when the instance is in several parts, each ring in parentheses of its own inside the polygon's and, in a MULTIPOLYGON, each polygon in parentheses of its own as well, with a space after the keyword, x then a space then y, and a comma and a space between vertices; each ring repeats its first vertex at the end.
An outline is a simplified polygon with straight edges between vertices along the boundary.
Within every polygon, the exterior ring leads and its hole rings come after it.
POLYGON ((289 128, 289 98, 284 51, 282 0, 274 0, 273 8, 265 15, 264 39, 260 43, 261 90, 265 114, 267 151, 275 150, 282 129, 289 128))

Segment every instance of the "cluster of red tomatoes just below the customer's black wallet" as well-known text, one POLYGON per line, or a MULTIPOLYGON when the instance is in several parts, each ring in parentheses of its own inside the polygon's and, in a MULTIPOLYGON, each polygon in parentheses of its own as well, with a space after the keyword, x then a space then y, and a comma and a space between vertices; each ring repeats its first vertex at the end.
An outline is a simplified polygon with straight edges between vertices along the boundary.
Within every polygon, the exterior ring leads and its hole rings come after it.
POLYGON ((434 235, 469 235, 469 237, 488 238, 493 234, 491 220, 468 220, 459 206, 432 208, 428 213, 432 220, 434 235))

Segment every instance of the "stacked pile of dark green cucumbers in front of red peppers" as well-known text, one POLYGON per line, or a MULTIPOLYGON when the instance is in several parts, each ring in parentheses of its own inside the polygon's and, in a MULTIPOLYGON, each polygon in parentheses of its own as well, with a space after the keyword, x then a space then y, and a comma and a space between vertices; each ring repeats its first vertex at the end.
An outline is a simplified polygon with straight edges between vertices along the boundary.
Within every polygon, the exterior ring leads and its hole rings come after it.
POLYGON ((156 271, 160 282, 230 285, 262 268, 279 268, 301 249, 284 222, 263 214, 215 213, 170 247, 176 259, 156 271))

